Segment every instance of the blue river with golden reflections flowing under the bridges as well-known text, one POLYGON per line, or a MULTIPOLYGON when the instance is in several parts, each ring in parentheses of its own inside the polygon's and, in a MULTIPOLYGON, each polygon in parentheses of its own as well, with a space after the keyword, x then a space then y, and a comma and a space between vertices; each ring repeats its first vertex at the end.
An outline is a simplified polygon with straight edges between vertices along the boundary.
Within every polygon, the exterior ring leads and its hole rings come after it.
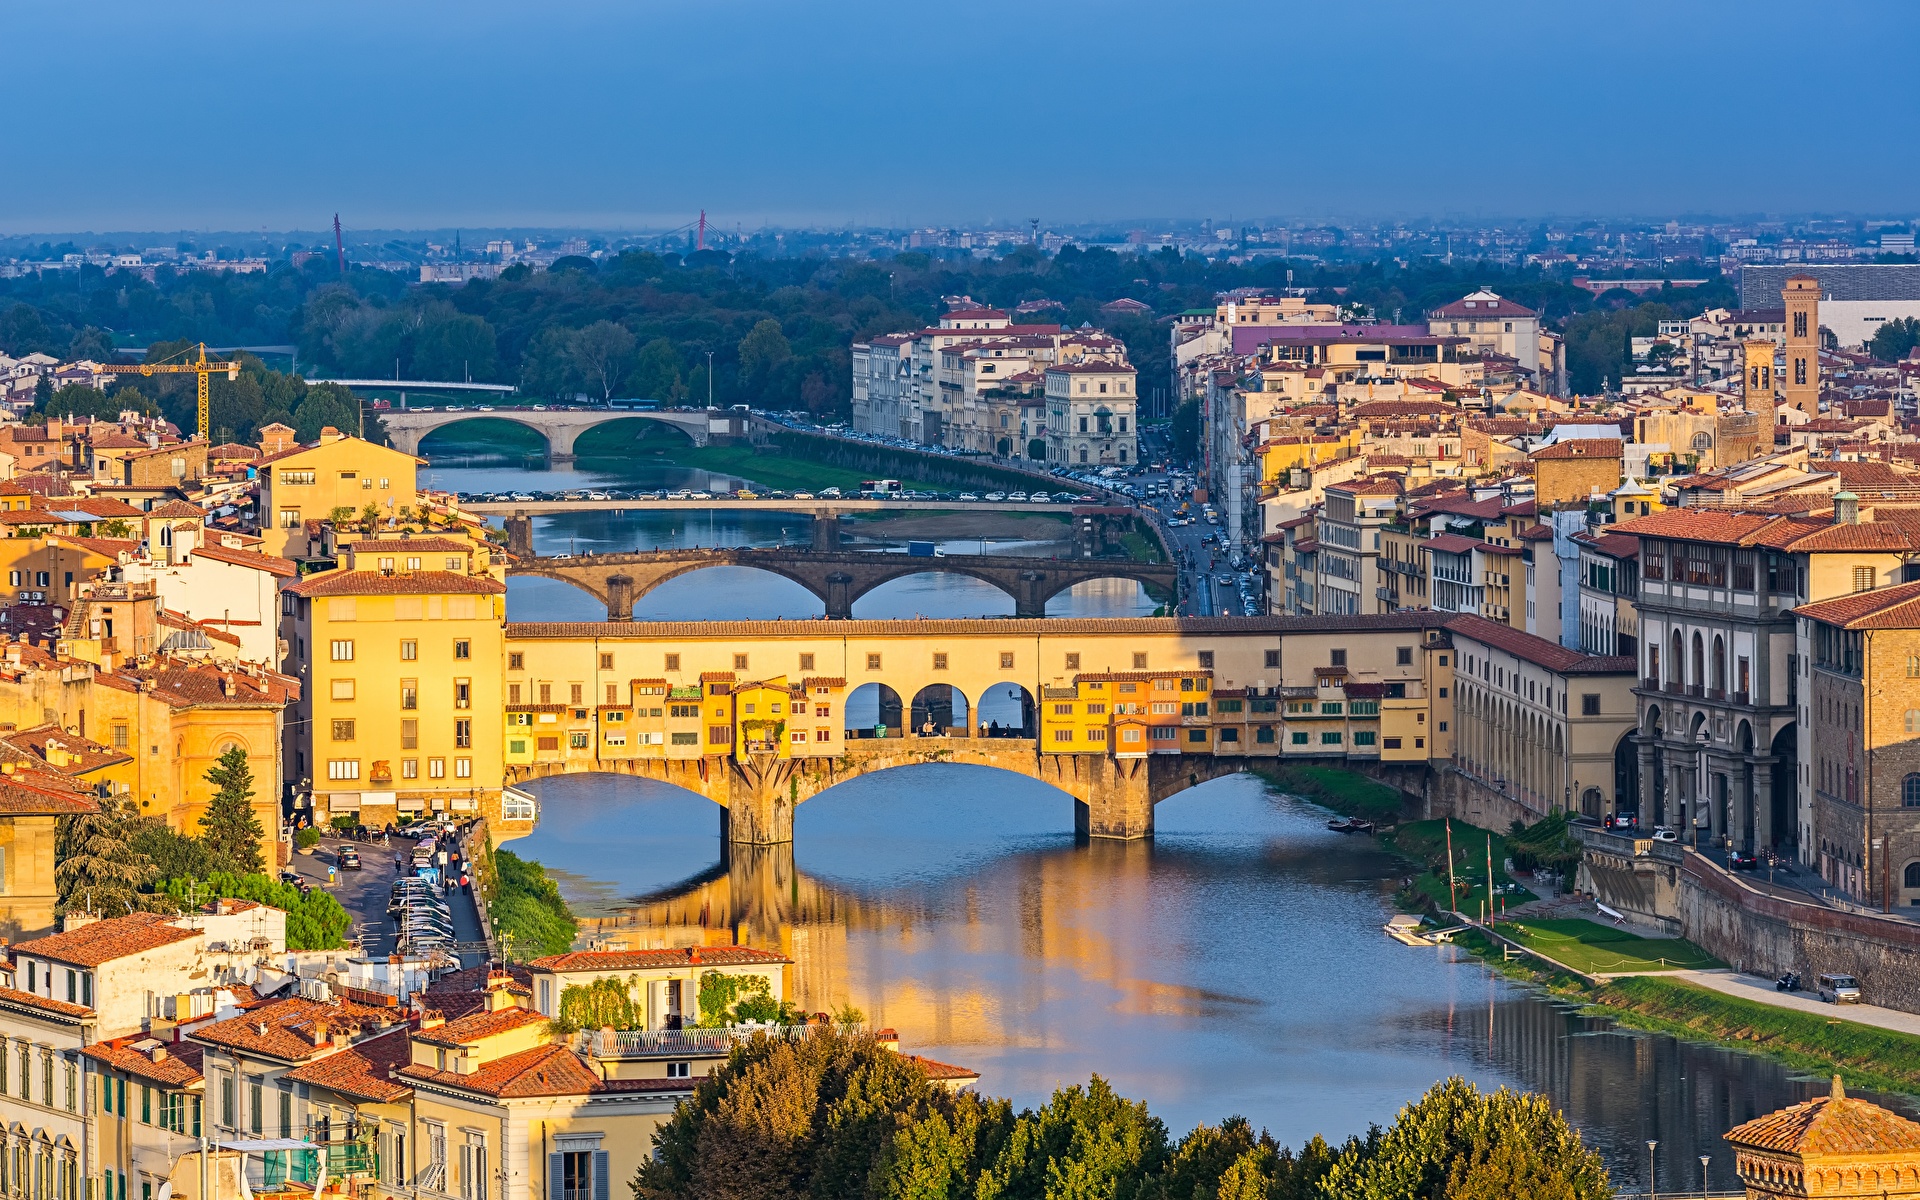
MULTIPOLYGON (((522 472, 442 459, 420 478, 455 490, 707 484, 705 472, 591 461, 522 472)), ((534 536, 543 553, 586 553, 804 541, 806 530, 804 518, 689 511, 536 518, 534 536)), ((515 580, 507 605, 515 620, 603 614, 545 580, 515 580)), ((856 616, 1010 609, 970 580, 922 576, 856 616)), ((636 603, 639 620, 818 611, 751 570, 697 572, 636 603)), ((1133 584, 1054 609, 1148 611, 1133 584)), ((1824 1089, 1766 1060, 1576 1016, 1452 948, 1390 941, 1380 924, 1405 866, 1252 776, 1160 804, 1152 843, 1075 845, 1071 801, 1044 783, 906 768, 808 801, 791 851, 732 868, 718 810, 691 793, 618 776, 536 791, 541 824, 513 849, 543 862, 609 941, 718 935, 778 948, 795 960, 803 1008, 851 1002, 897 1027, 908 1050, 966 1064, 981 1091, 1016 1104, 1100 1073, 1175 1133, 1242 1114, 1300 1144, 1388 1123, 1459 1073, 1551 1096, 1620 1190, 1645 1187, 1645 1140, 1659 1139, 1659 1187, 1684 1192, 1699 1188, 1701 1154, 1715 1190, 1738 1187, 1720 1133, 1824 1089)))

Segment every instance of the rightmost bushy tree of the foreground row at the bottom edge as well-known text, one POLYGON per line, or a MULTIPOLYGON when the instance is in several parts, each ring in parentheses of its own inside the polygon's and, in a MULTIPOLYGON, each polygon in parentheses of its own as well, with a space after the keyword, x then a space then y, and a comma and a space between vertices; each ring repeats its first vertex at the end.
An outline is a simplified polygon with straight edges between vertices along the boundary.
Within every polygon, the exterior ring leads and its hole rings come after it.
POLYGON ((1325 1200, 1607 1200, 1607 1167, 1546 1096, 1436 1083, 1367 1142, 1348 1142, 1325 1200))

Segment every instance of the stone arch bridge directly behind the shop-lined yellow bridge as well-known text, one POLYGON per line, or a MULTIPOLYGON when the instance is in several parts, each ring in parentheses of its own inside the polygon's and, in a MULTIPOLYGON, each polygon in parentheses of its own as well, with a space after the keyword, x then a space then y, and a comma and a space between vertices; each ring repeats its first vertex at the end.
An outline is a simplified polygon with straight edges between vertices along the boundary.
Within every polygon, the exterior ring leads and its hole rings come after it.
MULTIPOLYGON (((829 522, 816 522, 828 526, 829 522)), ((837 522, 831 522, 837 524, 837 522)), ((509 534, 515 534, 509 528, 509 534)), ((518 538, 509 538, 515 547, 518 538)), ((518 549, 516 549, 518 553, 518 549)), ((666 580, 707 566, 753 566, 793 580, 826 605, 828 618, 852 616, 852 605, 868 591, 914 574, 964 574, 1014 597, 1014 616, 1046 616, 1046 601, 1087 580, 1137 580, 1156 599, 1169 601, 1179 591, 1179 566, 1137 563, 1133 559, 1023 559, 1016 555, 912 557, 833 549, 660 549, 630 555, 580 555, 543 559, 522 555, 507 566, 509 576, 563 580, 593 593, 607 605, 607 620, 632 620, 636 597, 666 580)))

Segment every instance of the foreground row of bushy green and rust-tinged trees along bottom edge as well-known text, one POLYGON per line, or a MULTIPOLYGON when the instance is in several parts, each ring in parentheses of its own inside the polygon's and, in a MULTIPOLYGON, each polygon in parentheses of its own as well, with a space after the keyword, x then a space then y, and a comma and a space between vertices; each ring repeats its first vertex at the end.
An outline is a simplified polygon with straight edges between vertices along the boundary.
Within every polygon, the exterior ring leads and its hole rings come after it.
POLYGON ((1438 1083, 1388 1127, 1298 1152, 1229 1117, 1171 1139, 1098 1075, 1016 1114, 849 1029, 756 1037, 655 1139, 634 1200, 1605 1200, 1544 1096, 1438 1083))

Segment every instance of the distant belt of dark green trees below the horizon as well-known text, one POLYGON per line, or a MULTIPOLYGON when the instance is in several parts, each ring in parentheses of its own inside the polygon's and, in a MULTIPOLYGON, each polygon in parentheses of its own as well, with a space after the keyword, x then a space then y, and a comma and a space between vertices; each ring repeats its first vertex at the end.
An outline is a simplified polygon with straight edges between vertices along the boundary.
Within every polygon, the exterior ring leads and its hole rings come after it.
MULTIPOLYGON (((1054 301, 1060 307, 1025 319, 1112 330, 1142 386, 1156 388, 1165 386, 1171 353, 1160 319, 1212 307, 1223 290, 1288 284, 1382 321, 1421 321, 1475 286, 1492 286, 1567 328, 1569 342, 1580 344, 1569 355, 1574 382, 1586 390, 1626 369, 1626 338, 1657 321, 1642 309, 1665 303, 1697 313, 1734 303, 1720 280, 1680 294, 1596 298, 1561 269, 1490 263, 1236 265, 1173 250, 1135 257, 1071 246, 1056 255, 1021 246, 987 261, 918 252, 874 261, 626 252, 599 263, 561 259, 543 273, 511 267, 497 280, 459 288, 359 269, 342 278, 317 261, 246 276, 161 271, 152 284, 98 269, 48 273, 0 280, 0 349, 100 357, 109 328, 123 330, 123 340, 292 342, 309 374, 511 382, 549 397, 584 392, 705 403, 710 394, 718 403, 845 415, 849 346, 933 321, 945 296, 1006 309, 1054 301), (1152 313, 1100 313, 1121 296, 1152 313), (1609 324, 1622 311, 1640 313, 1632 332, 1609 324)), ((167 396, 154 399, 173 417, 167 396)), ((259 413, 298 417, 286 396, 265 386, 259 401, 259 413)), ((246 397, 232 405, 227 426, 242 432, 250 405, 246 397)))

